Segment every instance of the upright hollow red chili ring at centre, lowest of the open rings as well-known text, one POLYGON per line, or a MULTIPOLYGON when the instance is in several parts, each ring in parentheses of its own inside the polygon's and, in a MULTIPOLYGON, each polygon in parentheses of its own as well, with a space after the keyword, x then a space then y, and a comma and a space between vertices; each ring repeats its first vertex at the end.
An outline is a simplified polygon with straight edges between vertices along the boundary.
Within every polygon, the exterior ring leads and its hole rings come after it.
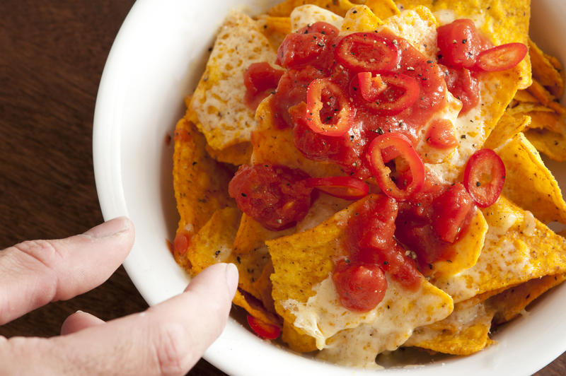
POLYGON ((405 201, 422 188, 422 184, 424 184, 424 163, 403 134, 393 132, 377 136, 369 144, 367 158, 377 184, 387 196, 398 201, 405 201), (387 150, 391 147, 395 148, 396 153, 393 153, 391 149, 387 150), (410 172, 407 179, 401 179, 397 184, 393 182, 390 176, 391 169, 386 166, 388 160, 383 158, 382 155, 384 150, 387 150, 388 158, 402 157, 405 160, 408 165, 407 172, 410 172))

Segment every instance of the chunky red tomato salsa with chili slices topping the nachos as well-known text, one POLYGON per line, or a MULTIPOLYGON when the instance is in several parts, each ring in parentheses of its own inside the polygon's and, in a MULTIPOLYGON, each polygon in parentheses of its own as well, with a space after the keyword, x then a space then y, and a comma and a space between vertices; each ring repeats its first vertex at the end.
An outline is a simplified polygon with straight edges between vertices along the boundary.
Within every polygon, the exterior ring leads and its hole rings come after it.
MULTIPOLYGON (((505 169, 494 151, 476 152, 463 182, 439 182, 417 152, 458 146, 454 124, 441 116, 450 92, 461 114, 478 105, 484 72, 509 69, 526 47, 493 47, 471 20, 438 28, 438 63, 388 30, 340 35, 328 23, 285 37, 275 69, 252 64, 244 74, 246 104, 272 95, 275 126, 293 131, 310 160, 340 165, 344 176, 310 177, 283 165, 242 165, 229 184, 241 210, 270 230, 306 216, 318 191, 362 199, 345 228, 333 282, 348 310, 366 312, 387 289, 386 273, 408 289, 420 286, 451 247, 477 206, 493 204, 505 169)), ((258 327, 258 324, 255 324, 258 327)), ((262 331, 266 331, 262 327, 262 331)))

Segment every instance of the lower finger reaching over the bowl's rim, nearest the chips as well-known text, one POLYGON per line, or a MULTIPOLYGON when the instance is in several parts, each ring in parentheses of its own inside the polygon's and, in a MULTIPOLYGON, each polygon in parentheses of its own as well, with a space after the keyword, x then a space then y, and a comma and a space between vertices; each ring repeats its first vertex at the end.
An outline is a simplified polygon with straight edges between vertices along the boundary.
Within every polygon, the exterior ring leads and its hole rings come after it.
POLYGON ((235 266, 215 264, 146 312, 50 340, 0 343, 0 364, 15 374, 184 375, 224 328, 237 285, 235 266))

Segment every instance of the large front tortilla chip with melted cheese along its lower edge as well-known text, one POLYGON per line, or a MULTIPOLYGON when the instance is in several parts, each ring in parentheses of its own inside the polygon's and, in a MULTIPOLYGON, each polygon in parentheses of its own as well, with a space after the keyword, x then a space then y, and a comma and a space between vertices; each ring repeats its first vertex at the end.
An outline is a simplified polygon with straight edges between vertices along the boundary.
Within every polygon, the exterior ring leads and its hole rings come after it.
MULTIPOLYGON (((336 343, 346 341, 362 324, 366 326, 359 330, 368 330, 371 323, 369 330, 379 332, 379 335, 363 356, 369 359, 373 355, 371 360, 374 361, 377 353, 384 350, 384 343, 389 341, 390 347, 391 343, 400 346, 414 327, 423 325, 421 322, 442 319, 453 308, 449 295, 424 278, 420 288, 409 291, 387 273, 386 295, 374 310, 352 312, 340 305, 334 283, 329 278, 334 269, 333 259, 345 255, 341 244, 349 219, 365 200, 376 198, 376 195, 366 196, 315 228, 266 242, 275 268, 271 276, 275 309, 287 322, 315 337, 318 348, 334 343, 320 353, 323 358, 338 356, 334 353, 339 346, 336 343)), ((340 363, 340 359, 337 361, 340 363)))

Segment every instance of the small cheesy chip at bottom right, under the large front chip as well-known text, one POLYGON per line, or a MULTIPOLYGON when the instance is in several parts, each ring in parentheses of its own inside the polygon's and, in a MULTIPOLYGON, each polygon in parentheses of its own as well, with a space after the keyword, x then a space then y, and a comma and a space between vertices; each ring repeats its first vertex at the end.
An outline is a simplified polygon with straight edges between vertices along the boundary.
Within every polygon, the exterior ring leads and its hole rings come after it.
POLYGON ((459 356, 477 353, 492 342, 488 334, 493 315, 494 310, 483 304, 466 308, 456 305, 446 319, 415 329, 403 346, 459 356))

